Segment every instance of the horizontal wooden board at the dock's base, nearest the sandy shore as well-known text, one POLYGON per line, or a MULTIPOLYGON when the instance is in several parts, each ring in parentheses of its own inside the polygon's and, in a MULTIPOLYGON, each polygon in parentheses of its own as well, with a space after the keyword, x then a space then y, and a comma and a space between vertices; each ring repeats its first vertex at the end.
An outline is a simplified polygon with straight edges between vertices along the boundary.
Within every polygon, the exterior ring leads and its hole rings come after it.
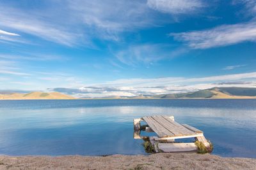
POLYGON ((195 143, 158 143, 157 150, 163 152, 191 152, 196 151, 195 143))

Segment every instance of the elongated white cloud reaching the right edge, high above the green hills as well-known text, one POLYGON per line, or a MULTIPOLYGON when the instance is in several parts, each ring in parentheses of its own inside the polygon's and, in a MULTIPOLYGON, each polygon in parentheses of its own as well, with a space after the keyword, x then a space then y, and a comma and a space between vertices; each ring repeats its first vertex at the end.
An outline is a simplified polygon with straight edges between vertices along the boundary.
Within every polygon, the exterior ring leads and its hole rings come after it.
POLYGON ((212 48, 234 45, 244 41, 256 41, 256 22, 221 25, 203 31, 171 33, 178 41, 188 43, 191 48, 212 48))

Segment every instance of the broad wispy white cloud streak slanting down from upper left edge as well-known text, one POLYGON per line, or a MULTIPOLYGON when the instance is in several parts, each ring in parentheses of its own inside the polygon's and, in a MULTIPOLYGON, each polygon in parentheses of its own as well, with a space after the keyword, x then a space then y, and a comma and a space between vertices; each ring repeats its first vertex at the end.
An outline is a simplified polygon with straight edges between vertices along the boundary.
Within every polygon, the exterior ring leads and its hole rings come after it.
MULTIPOLYGON (((51 13, 49 13, 51 14, 51 13)), ((1 5, 0 25, 1 27, 24 32, 48 41, 54 41, 63 45, 72 46, 81 35, 70 32, 64 25, 54 24, 57 18, 43 17, 38 12, 30 13, 17 8, 1 5), (49 20, 50 19, 50 20, 49 20)))

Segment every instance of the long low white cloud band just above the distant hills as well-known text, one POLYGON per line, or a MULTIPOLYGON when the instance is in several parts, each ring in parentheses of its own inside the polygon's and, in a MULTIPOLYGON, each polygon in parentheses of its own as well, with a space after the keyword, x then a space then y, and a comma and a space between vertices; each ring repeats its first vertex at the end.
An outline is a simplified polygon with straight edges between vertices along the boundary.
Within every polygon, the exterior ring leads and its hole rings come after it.
POLYGON ((139 96, 141 94, 154 95, 191 92, 210 89, 212 87, 256 87, 255 80, 256 72, 252 72, 202 78, 166 77, 120 79, 84 86, 79 89, 56 88, 52 90, 84 97, 139 96))

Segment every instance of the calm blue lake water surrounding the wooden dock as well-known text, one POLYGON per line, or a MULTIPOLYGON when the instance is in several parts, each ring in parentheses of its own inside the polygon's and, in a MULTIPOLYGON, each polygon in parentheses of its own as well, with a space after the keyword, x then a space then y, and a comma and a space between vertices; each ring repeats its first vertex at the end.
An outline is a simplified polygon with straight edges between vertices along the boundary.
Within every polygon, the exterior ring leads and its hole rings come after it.
POLYGON ((204 131, 213 154, 256 158, 256 100, 0 101, 0 155, 147 154, 134 118, 174 115, 204 131))

